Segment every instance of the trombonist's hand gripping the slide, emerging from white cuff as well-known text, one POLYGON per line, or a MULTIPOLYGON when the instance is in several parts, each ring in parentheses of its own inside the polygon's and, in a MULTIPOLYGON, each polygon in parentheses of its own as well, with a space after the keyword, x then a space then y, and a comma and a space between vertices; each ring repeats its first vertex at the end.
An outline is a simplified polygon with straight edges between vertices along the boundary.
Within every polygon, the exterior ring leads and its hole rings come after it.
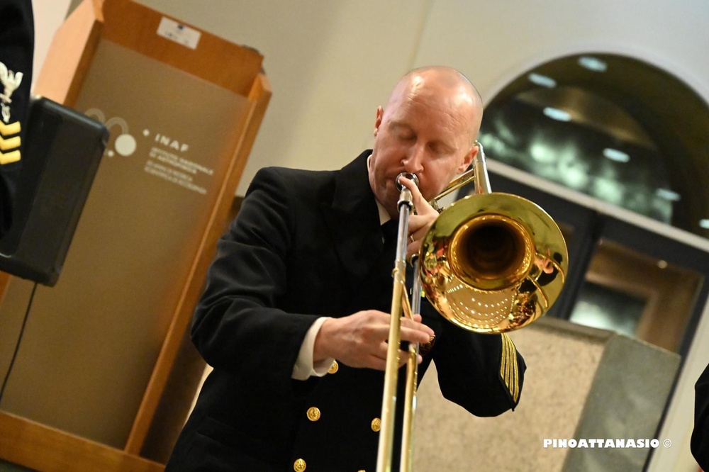
MULTIPOLYGON (((350 367, 386 370, 386 339, 391 315, 378 310, 364 310, 344 318, 328 318, 320 327, 313 347, 313 361, 333 357, 350 367)), ((421 323, 421 315, 413 320, 401 318, 401 341, 429 342, 433 330, 421 323)), ((418 359, 421 362, 421 356, 418 359)), ((406 353, 399 351, 399 366, 406 353)))

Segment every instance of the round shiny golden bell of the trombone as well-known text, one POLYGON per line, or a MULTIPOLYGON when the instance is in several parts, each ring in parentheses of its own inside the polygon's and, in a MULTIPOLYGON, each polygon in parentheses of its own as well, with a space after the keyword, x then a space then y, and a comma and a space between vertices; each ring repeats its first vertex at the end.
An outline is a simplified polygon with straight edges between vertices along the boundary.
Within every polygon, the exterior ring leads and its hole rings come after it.
POLYGON ((423 240, 421 285, 450 322, 500 333, 539 318, 559 297, 568 270, 562 232, 520 196, 467 196, 443 210, 423 240))

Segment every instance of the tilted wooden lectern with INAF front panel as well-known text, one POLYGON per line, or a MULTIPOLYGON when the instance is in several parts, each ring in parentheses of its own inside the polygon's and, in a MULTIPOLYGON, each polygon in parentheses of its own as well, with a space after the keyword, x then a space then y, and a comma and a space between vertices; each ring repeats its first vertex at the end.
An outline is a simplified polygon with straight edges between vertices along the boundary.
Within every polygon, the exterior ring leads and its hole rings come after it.
MULTIPOLYGON (((35 94, 110 137, 62 278, 36 287, 0 403, 0 463, 162 470, 141 454, 271 96, 261 64, 127 0, 85 0, 57 31, 35 94)), ((2 376, 31 288, 0 282, 2 376)))

